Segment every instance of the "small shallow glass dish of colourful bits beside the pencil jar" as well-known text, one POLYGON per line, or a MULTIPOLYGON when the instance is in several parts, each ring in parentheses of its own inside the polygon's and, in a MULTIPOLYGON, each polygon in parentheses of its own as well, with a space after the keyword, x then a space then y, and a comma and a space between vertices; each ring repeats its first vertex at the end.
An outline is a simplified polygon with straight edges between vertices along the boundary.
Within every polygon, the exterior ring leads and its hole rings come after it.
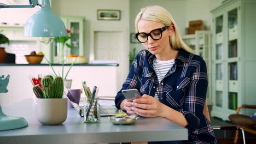
POLYGON ((109 121, 112 122, 113 124, 133 124, 137 122, 139 117, 137 116, 125 116, 125 117, 117 117, 117 116, 111 116, 108 117, 109 121), (129 118, 127 118, 129 117, 129 118))

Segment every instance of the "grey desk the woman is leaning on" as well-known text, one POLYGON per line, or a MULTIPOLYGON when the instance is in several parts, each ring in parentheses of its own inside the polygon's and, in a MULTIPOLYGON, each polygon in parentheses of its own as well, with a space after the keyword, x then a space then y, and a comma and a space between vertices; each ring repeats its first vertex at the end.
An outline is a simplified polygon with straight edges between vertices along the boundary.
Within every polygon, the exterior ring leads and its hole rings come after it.
POLYGON ((0 143, 116 143, 188 140, 188 130, 161 117, 139 118, 133 125, 114 125, 107 117, 101 123, 84 123, 74 109, 68 109, 62 125, 42 125, 36 105, 25 99, 15 106, 2 107, 5 115, 24 117, 28 127, 0 131, 0 143))

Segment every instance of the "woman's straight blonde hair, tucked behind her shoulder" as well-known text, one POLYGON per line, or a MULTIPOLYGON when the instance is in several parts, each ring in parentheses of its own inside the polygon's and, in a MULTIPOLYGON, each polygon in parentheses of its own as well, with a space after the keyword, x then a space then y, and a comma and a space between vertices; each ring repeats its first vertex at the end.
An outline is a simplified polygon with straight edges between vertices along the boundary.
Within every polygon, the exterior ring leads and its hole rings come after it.
POLYGON ((179 35, 178 27, 173 17, 171 16, 170 13, 168 13, 168 11, 165 8, 162 8, 158 5, 150 5, 146 8, 142 8, 135 19, 136 32, 138 32, 137 24, 139 20, 155 21, 155 22, 162 23, 165 26, 173 25, 174 32, 172 37, 170 38, 170 44, 172 46, 172 49, 174 50, 184 49, 187 52, 194 53, 193 50, 190 49, 190 47, 183 42, 181 35, 179 35))

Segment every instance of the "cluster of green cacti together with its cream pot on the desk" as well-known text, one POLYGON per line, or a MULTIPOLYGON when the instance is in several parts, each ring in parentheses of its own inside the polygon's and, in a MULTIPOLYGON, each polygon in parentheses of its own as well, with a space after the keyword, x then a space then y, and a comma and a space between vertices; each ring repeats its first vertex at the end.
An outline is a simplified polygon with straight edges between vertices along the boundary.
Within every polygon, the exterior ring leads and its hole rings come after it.
POLYGON ((41 81, 42 87, 36 85, 33 92, 37 99, 37 117, 44 125, 58 125, 67 118, 67 98, 63 95, 63 79, 46 75, 41 81))

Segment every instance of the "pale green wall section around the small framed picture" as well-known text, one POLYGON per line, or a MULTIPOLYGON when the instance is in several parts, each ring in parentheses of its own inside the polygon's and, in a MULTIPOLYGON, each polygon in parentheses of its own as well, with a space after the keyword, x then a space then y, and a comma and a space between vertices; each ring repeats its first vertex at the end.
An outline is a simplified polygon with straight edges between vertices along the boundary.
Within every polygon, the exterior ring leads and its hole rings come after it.
MULTIPOLYGON (((92 46, 92 30, 111 31, 111 29, 123 29, 129 32, 129 0, 55 0, 52 1, 54 13, 61 16, 83 16, 85 17, 85 57, 89 56, 92 46), (120 21, 97 20, 97 9, 119 9, 121 10, 120 21)), ((127 41, 129 38, 127 37, 127 41)), ((127 46, 128 47, 128 46, 127 46)))

